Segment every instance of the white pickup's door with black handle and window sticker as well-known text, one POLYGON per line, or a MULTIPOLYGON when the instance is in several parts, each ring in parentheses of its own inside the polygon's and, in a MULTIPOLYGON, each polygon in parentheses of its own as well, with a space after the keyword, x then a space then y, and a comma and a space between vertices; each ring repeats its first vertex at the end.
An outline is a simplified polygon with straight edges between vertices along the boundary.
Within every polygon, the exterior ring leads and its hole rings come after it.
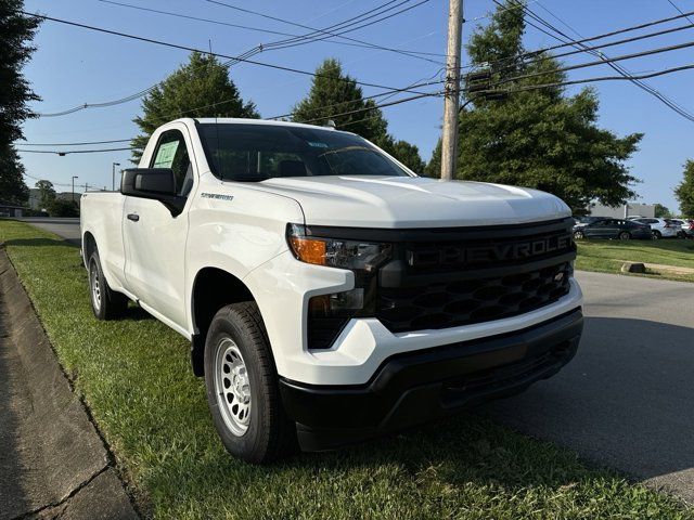
MULTIPOLYGON (((184 126, 162 133, 149 168, 171 168, 178 194, 188 196, 196 179, 184 126)), ((126 197, 126 281, 145 306, 185 328, 185 242, 188 210, 172 217, 158 200, 126 197)))

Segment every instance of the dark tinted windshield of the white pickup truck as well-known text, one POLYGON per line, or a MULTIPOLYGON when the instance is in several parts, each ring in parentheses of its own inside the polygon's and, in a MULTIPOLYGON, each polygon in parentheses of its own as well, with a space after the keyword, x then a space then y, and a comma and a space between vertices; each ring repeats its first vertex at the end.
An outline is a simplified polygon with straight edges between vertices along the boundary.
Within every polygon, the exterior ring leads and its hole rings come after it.
POLYGON ((367 140, 349 133, 253 123, 197 128, 213 173, 226 181, 410 174, 367 140))

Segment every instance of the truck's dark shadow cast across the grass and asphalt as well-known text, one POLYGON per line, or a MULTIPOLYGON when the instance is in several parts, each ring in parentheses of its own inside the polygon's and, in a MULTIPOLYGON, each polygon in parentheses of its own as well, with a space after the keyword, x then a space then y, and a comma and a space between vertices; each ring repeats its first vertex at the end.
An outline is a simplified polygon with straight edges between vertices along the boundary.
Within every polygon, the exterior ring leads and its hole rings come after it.
MULTIPOLYGON (((525 500, 550 504, 557 496, 583 503, 602 495, 599 500, 613 514, 633 512, 631 500, 645 500, 647 494, 630 487, 629 479, 676 472, 682 489, 657 479, 652 483, 687 499, 687 479, 694 479, 694 410, 685 373, 694 366, 694 348, 686 338, 693 333, 644 320, 588 317, 577 359, 519 396, 336 452, 296 454, 269 467, 239 461, 208 439, 213 447, 207 456, 198 454, 188 464, 181 458, 164 461, 152 468, 150 485, 176 482, 176 499, 214 502, 215 495, 230 490, 281 482, 280 496, 272 502, 295 503, 297 510, 323 504, 316 517, 335 510, 363 512, 352 509, 357 506, 350 499, 419 507, 450 502, 465 508, 466 500, 494 496, 522 503, 515 518, 524 516, 525 500), (335 489, 339 492, 333 496, 335 489), (325 493, 327 498, 321 495, 325 493), (324 509, 332 499, 337 509, 324 509)), ((183 413, 204 415, 201 406, 191 403, 183 413)), ((208 419, 204 421, 201 434, 214 435, 208 419)))

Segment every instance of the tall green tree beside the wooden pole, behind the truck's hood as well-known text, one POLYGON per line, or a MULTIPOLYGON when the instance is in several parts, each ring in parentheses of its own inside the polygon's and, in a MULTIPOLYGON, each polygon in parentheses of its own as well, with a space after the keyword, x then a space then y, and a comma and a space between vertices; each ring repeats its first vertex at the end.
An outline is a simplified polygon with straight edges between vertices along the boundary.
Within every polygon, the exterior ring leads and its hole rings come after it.
MULTIPOLYGON (((491 64, 492 84, 507 81, 498 89, 528 90, 493 101, 470 94, 460 117, 457 178, 544 190, 576 211, 592 200, 624 204, 635 195, 632 186, 638 182, 625 162, 643 134, 619 138, 599 128, 599 102, 592 89, 573 96, 562 87, 529 90, 566 76, 548 53, 526 61, 515 57, 525 52, 525 20, 523 10, 507 9, 513 4, 506 1, 488 27, 477 28, 467 51, 476 67, 491 64)), ((426 171, 439 176, 440 143, 426 171)))

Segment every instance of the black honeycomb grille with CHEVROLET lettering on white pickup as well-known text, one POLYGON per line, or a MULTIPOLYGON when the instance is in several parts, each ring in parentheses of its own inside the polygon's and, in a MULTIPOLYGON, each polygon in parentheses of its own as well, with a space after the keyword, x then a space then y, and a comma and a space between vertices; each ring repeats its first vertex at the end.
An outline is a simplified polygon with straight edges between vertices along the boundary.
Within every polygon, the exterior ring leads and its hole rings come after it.
POLYGON ((376 317, 393 333, 511 317, 569 291, 569 221, 435 232, 397 245, 381 272, 376 317))

